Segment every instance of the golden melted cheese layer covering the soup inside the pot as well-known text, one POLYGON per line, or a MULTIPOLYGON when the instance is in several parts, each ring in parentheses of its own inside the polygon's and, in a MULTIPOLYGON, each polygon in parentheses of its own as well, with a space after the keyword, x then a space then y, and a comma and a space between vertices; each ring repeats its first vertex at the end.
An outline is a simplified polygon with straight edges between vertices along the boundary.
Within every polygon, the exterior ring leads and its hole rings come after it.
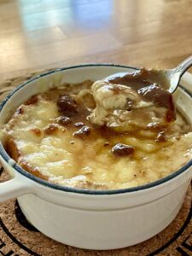
MULTIPOLYGON (((85 94, 81 92, 82 84, 75 86, 75 90, 70 88, 73 86, 38 95, 37 102, 20 106, 8 124, 3 125, 1 137, 5 147, 9 148, 9 154, 16 155, 15 160, 26 171, 70 187, 124 189, 165 177, 191 159, 192 132, 180 114, 163 131, 166 141, 156 140, 160 131, 154 127, 141 128, 141 119, 146 115, 150 121, 155 119, 153 108, 150 113, 129 112, 134 129, 123 134, 98 130, 86 119, 87 115, 79 117, 75 122, 81 120, 89 125, 90 135, 85 139, 74 137, 74 132, 79 130, 74 123, 60 125, 55 121, 61 116, 56 105, 58 95, 71 90, 77 102, 84 102, 86 108, 94 103, 86 95, 90 93, 87 88, 85 94), (82 101, 84 95, 86 100, 82 101), (134 154, 117 157, 112 153, 117 143, 134 147, 134 154)), ((90 113, 93 108, 89 108, 90 113)))

